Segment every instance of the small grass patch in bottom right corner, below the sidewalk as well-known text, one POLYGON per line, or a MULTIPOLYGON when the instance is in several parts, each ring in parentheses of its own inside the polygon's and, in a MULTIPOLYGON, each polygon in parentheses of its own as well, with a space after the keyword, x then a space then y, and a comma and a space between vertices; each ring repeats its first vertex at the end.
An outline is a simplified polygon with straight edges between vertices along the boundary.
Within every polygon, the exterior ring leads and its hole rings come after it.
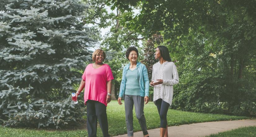
POLYGON ((208 137, 255 137, 256 126, 241 127, 231 131, 220 132, 218 134, 211 134, 208 137))

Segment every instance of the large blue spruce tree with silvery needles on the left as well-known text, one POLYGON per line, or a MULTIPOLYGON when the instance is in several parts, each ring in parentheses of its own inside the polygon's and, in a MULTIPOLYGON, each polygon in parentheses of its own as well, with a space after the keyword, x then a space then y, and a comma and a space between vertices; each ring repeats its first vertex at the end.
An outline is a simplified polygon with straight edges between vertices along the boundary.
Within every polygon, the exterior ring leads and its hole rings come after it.
POLYGON ((0 3, 0 120, 6 126, 56 126, 83 116, 71 92, 81 81, 88 47, 80 0, 6 0, 0 3))

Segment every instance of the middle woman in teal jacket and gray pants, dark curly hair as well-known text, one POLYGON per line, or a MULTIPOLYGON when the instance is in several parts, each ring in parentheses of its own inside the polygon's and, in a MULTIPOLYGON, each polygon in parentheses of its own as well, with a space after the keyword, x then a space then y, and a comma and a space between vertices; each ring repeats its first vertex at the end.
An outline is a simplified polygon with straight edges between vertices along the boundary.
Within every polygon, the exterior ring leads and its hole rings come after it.
POLYGON ((135 107, 136 117, 139 120, 144 137, 148 137, 146 119, 144 116, 145 104, 149 101, 149 79, 147 68, 144 64, 137 62, 139 53, 135 47, 130 47, 126 51, 126 58, 130 61, 124 66, 123 77, 120 85, 118 103, 122 105, 124 99, 125 118, 127 134, 133 137, 133 117, 132 109, 135 107))

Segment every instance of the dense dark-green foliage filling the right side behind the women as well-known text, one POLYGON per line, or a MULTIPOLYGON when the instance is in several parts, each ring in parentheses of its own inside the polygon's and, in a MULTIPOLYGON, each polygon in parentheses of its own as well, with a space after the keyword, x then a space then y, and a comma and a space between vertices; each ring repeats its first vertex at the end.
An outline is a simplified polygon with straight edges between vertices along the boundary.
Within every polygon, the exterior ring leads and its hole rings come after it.
POLYGON ((173 108, 255 114, 255 1, 110 3, 123 12, 141 8, 124 21, 127 28, 143 36, 163 35, 180 76, 173 108))

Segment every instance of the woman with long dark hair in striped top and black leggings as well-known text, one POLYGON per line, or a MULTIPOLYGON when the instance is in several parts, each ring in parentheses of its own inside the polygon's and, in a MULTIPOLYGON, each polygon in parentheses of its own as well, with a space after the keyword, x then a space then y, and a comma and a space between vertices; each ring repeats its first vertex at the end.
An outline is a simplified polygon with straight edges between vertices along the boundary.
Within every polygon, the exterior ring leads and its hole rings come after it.
POLYGON ((167 111, 172 105, 173 85, 179 83, 179 76, 166 46, 156 48, 155 59, 159 62, 153 65, 150 86, 154 87, 153 101, 160 116, 160 137, 168 137, 167 111))

